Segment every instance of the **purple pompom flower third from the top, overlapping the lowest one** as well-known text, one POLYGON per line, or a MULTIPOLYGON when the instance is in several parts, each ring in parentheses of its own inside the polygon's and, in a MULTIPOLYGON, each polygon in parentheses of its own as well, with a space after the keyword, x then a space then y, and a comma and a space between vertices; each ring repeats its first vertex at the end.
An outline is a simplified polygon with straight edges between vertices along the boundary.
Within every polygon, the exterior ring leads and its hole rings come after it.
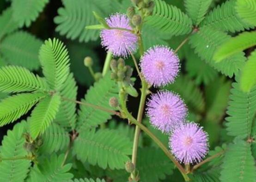
POLYGON ((147 102, 147 115, 153 127, 170 133, 183 124, 187 116, 187 107, 178 95, 159 91, 147 102))

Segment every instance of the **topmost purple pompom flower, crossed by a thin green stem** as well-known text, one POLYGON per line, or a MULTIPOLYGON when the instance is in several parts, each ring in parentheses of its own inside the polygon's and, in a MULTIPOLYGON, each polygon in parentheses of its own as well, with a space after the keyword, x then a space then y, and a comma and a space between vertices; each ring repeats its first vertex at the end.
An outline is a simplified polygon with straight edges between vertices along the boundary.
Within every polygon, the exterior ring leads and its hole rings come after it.
MULTIPOLYGON (((125 14, 111 15, 110 18, 106 18, 106 22, 112 28, 132 30, 129 19, 125 14)), ((102 46, 106 47, 115 56, 127 57, 129 52, 134 52, 137 49, 137 36, 126 30, 103 29, 100 37, 102 46)))

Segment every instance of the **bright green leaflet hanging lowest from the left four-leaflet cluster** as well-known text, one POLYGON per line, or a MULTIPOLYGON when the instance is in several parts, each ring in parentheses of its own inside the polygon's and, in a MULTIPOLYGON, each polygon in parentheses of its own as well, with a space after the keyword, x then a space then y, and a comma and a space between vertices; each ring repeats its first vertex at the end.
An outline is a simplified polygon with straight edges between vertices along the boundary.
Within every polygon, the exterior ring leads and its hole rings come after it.
POLYGON ((55 119, 60 104, 61 97, 58 94, 48 96, 37 104, 29 118, 30 135, 32 138, 35 139, 39 134, 44 133, 45 129, 55 119))

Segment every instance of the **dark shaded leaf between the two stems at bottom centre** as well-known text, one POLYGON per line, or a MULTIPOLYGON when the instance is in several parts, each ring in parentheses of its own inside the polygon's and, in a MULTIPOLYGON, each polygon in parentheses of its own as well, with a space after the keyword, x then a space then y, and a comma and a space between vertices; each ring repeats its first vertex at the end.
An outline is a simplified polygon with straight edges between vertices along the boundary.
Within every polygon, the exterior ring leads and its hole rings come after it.
POLYGON ((141 182, 158 182, 171 175, 173 164, 159 148, 139 148, 137 159, 141 182))

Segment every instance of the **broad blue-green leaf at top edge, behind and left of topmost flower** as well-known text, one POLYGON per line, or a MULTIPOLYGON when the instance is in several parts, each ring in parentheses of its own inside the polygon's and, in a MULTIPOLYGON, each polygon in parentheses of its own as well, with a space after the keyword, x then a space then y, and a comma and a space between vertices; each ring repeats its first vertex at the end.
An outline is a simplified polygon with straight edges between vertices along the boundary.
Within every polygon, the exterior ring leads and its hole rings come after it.
POLYGON ((116 12, 119 6, 117 0, 62 0, 64 7, 58 9, 54 22, 58 25, 56 31, 66 35, 68 39, 79 39, 79 42, 96 41, 98 30, 85 29, 85 26, 98 24, 92 11, 101 17, 107 17, 116 12))

